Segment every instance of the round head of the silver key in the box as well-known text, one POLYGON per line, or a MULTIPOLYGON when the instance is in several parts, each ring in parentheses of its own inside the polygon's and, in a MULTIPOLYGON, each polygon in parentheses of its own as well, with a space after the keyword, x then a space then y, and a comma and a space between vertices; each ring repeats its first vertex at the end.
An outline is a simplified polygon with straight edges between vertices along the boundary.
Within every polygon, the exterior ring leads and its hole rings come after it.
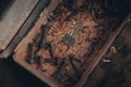
POLYGON ((63 44, 67 46, 73 46, 75 44, 75 38, 73 38, 72 36, 70 36, 69 34, 64 35, 63 38, 63 44))

